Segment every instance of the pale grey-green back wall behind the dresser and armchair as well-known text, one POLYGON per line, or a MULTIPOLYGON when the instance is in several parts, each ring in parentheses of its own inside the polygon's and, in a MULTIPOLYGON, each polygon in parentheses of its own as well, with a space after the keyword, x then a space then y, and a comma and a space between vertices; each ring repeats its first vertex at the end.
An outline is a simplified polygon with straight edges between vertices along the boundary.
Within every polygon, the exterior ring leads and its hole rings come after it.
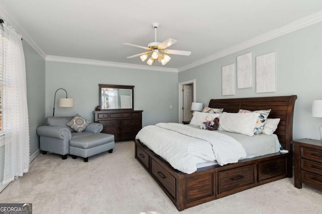
POLYGON ((52 116, 54 94, 64 88, 73 108, 59 108, 63 90, 56 94, 55 116, 75 115, 94 120, 99 105, 99 84, 134 85, 134 110, 143 110, 142 125, 178 121, 178 74, 84 65, 46 62, 46 116, 52 116), (173 108, 170 108, 170 105, 173 108))

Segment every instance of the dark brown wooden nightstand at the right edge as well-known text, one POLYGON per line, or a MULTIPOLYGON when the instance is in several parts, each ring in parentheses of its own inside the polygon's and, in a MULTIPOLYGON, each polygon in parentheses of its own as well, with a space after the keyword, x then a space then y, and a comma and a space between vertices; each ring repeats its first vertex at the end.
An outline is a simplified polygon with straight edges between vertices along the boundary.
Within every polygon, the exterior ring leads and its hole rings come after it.
POLYGON ((322 143, 320 140, 298 139, 294 145, 294 186, 302 183, 322 190, 322 143))

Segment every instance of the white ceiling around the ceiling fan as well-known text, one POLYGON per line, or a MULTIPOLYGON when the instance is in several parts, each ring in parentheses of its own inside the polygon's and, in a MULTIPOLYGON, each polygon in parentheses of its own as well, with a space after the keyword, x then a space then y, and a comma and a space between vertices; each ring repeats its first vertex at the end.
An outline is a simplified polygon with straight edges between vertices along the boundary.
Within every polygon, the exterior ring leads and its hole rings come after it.
POLYGON ((46 59, 177 71, 273 38, 285 26, 291 25, 288 31, 292 31, 302 22, 320 22, 321 11, 321 0, 0 0, 0 17, 16 26, 46 59), (154 42, 153 22, 160 24, 158 42, 175 39, 178 42, 168 49, 192 54, 170 55, 165 66, 156 62, 151 67, 138 57, 127 59, 145 50, 123 43, 154 42))

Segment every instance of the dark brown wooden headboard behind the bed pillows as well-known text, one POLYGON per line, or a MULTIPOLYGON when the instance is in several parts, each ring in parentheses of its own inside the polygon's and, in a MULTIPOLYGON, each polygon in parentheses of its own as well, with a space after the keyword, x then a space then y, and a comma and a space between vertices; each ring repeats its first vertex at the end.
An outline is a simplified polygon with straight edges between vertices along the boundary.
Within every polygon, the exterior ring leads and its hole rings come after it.
POLYGON ((236 99, 211 99, 210 108, 223 108, 224 112, 237 113, 239 109, 266 110, 271 109, 268 118, 281 118, 274 132, 283 145, 291 151, 290 141, 293 139, 293 111, 296 95, 280 97, 251 97, 236 99))

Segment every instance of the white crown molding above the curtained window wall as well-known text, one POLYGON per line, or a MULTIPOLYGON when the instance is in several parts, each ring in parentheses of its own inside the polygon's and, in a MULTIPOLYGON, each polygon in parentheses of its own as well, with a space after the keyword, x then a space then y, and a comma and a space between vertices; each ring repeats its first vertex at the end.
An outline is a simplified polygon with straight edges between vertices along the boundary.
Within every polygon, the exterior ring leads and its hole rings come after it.
POLYGON ((13 26, 23 40, 25 40, 43 59, 46 58, 46 54, 39 48, 39 46, 31 39, 27 31, 20 25, 16 18, 6 9, 6 7, 0 2, 0 14, 2 19, 13 26))

